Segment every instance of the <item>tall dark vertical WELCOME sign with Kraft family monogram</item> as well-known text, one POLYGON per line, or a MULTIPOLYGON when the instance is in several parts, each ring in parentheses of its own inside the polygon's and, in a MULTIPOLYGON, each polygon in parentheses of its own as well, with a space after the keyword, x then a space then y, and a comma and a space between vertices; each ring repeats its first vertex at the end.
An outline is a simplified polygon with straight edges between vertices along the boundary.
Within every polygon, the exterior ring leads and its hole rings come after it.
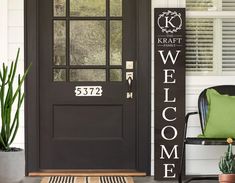
POLYGON ((155 9, 155 179, 176 179, 185 115, 185 9, 155 9))

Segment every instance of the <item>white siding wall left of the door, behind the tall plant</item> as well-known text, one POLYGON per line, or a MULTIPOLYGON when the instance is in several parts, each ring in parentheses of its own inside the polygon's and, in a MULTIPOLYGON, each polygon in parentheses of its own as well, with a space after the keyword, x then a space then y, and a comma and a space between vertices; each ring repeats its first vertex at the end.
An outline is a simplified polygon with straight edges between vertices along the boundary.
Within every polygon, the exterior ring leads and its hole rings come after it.
MULTIPOLYGON (((19 69, 17 73, 24 70, 24 13, 23 0, 0 0, 0 68, 2 62, 8 64, 15 59, 17 49, 21 49, 19 58, 19 69)), ((14 108, 14 110, 16 110, 14 108)), ((24 106, 20 111, 19 133, 13 146, 24 148, 24 106)))

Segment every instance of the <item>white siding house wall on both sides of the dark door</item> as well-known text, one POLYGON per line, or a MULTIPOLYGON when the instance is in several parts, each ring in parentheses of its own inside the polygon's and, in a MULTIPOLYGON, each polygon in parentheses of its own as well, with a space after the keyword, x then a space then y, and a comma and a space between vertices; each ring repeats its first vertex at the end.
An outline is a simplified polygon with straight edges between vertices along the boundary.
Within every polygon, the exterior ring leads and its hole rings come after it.
MULTIPOLYGON (((0 63, 3 60, 11 61, 16 56, 17 48, 21 48, 20 69, 23 72, 23 0, 0 0, 0 63), (4 8, 5 7, 5 8, 4 8), (6 9, 7 8, 7 9, 6 9), (7 21, 6 21, 7 20, 7 21)), ((185 0, 152 0, 152 11, 155 7, 185 7, 185 0)), ((153 17, 152 17, 153 20, 153 17)), ((153 21, 152 21, 153 22, 153 21)), ((153 30, 153 23, 152 23, 153 30)), ((152 31, 153 33, 153 31, 152 31)), ((153 36, 152 36, 153 37, 153 36)), ((154 39, 152 39, 154 40, 154 39)), ((152 42, 153 45, 153 42, 152 42)), ((154 66, 154 53, 152 53, 152 66, 154 66)), ((154 67, 152 67, 154 68, 154 67)), ((152 72, 152 84, 154 72, 152 72)), ((235 77, 231 76, 187 76, 186 78, 186 111, 197 109, 197 98, 200 91, 208 86, 219 84, 235 84, 235 77)), ((152 101, 153 100, 152 90, 152 101)), ((152 103, 152 132, 154 131, 154 104, 152 103)), ((189 125, 189 135, 200 133, 197 117, 192 118, 189 125)), ((153 134, 153 133, 152 133, 153 134)), ((152 174, 154 163, 154 137, 152 135, 152 174)), ((20 132, 16 138, 15 146, 24 147, 24 110, 21 110, 20 132)), ((187 174, 217 173, 217 163, 225 147, 193 147, 187 148, 187 174), (211 153, 213 152, 213 153, 211 153), (202 168, 203 167, 203 171, 202 168)))

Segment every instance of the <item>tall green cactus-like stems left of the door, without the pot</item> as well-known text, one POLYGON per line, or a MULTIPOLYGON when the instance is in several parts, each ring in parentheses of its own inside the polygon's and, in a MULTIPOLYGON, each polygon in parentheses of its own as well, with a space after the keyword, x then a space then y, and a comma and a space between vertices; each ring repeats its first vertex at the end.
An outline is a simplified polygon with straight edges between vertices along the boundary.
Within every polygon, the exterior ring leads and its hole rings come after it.
POLYGON ((0 124, 0 149, 9 150, 19 129, 20 107, 24 101, 25 94, 21 94, 21 87, 29 73, 31 65, 26 69, 23 76, 18 76, 18 86, 13 88, 20 49, 17 51, 15 61, 11 62, 8 67, 3 63, 0 70, 0 107, 1 107, 1 124, 0 124), (16 101, 17 100, 17 101, 16 101), (17 109, 12 115, 13 104, 17 102, 17 109))

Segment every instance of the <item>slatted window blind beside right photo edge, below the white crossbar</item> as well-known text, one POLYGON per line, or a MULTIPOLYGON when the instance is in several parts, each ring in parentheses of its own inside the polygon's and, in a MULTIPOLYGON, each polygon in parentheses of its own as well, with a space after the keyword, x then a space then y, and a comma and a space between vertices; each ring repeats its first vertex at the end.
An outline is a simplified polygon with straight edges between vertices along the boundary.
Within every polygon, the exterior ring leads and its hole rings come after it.
POLYGON ((222 20, 222 71, 235 71, 235 20, 222 20))

